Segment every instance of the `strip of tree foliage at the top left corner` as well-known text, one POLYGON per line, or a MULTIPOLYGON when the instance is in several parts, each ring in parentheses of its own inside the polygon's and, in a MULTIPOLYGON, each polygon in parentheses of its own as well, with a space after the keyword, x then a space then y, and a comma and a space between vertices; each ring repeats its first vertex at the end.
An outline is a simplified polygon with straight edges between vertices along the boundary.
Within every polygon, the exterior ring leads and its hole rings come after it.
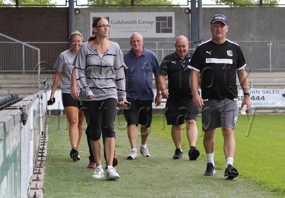
MULTIPOLYGON (((0 0, 0 5, 7 5, 6 7, 25 7, 26 5, 56 5, 57 3, 51 3, 51 0, 18 0, 18 5, 16 5, 17 0, 0 0)), ((32 6, 29 6, 32 7, 32 6)))

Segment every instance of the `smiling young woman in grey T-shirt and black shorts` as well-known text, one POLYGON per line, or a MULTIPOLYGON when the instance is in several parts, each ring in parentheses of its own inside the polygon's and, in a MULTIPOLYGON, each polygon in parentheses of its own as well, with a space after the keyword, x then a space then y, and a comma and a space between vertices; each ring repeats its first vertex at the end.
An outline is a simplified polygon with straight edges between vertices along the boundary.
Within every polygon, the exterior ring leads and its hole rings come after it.
POLYGON ((72 66, 72 63, 79 48, 81 47, 81 44, 83 43, 82 34, 78 31, 71 33, 69 37, 69 43, 72 48, 62 52, 59 55, 54 66, 54 68, 57 69, 57 73, 54 79, 50 99, 53 101, 57 85, 62 76, 61 97, 64 111, 69 123, 69 139, 72 147, 70 151, 70 157, 73 159, 73 161, 78 161, 80 160, 78 147, 83 131, 84 112, 83 110, 79 110, 81 107, 80 103, 78 100, 75 100, 71 97, 70 90, 71 74, 72 69, 74 68, 74 66, 72 66))

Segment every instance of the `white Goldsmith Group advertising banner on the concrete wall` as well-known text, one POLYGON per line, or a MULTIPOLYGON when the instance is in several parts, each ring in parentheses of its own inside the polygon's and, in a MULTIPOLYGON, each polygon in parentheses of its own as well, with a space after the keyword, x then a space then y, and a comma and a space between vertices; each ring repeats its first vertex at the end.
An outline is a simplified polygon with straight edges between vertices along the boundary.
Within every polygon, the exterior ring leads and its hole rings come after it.
POLYGON ((144 38, 175 37, 174 12, 104 12, 90 13, 90 33, 96 17, 106 17, 112 38, 130 38, 142 33, 144 38))

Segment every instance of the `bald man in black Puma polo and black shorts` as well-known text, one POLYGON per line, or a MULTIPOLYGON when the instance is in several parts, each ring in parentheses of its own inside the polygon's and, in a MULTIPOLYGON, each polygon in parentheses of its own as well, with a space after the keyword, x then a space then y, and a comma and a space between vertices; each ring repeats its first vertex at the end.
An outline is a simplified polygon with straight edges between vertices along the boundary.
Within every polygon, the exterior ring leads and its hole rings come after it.
POLYGON ((200 154, 195 147, 198 137, 196 118, 199 109, 193 105, 190 89, 191 69, 187 67, 191 60, 188 51, 189 42, 186 36, 180 35, 174 45, 175 52, 164 57, 158 72, 161 94, 167 99, 165 110, 167 124, 172 125, 171 136, 176 147, 173 159, 182 158, 182 124, 185 121, 190 147, 188 156, 190 160, 196 160, 200 154), (165 86, 167 75, 168 90, 165 86))

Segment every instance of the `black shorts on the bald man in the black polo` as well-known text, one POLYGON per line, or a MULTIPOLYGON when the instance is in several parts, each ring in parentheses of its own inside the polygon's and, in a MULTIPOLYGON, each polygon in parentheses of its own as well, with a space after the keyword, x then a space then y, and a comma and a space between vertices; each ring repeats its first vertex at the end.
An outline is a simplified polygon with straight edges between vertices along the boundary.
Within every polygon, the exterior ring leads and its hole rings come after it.
POLYGON ((185 120, 197 120, 199 109, 193 105, 192 100, 188 102, 166 103, 165 117, 167 125, 182 125, 185 120))

